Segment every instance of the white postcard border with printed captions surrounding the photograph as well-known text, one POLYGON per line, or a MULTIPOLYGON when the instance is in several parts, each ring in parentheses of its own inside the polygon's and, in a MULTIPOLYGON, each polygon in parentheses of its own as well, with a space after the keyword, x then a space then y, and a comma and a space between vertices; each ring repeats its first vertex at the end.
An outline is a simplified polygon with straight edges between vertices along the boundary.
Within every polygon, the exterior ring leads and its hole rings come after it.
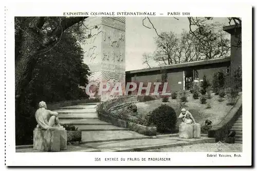
MULTIPOLYGON (((111 4, 111 3, 110 3, 111 4)), ((93 2, 85 4, 65 4, 65 3, 42 3, 42 4, 12 4, 7 5, 6 11, 6 164, 8 166, 27 165, 58 165, 58 166, 205 166, 205 165, 251 165, 251 142, 252 142, 252 8, 244 4, 219 3, 187 3, 163 5, 159 3, 116 3, 110 5, 102 2, 101 6, 93 2), (32 6, 33 5, 33 6, 32 6), (106 8, 108 7, 108 9, 106 8), (47 10, 46 10, 47 9, 47 10), (106 10, 107 9, 107 10, 106 10), (159 152, 128 152, 128 153, 15 153, 15 107, 14 107, 14 16, 63 16, 63 12, 71 11, 148 11, 166 14, 169 11, 189 11, 191 16, 240 16, 242 17, 242 66, 243 66, 243 153, 241 158, 209 158, 207 154, 215 153, 159 153, 159 152), (170 162, 106 162, 104 158, 149 158, 149 157, 169 157, 170 162), (95 161, 101 158, 102 161, 95 161), (54 161, 54 162, 52 162, 54 161), (187 161, 187 162, 185 162, 187 161)), ((167 16, 167 15, 156 15, 167 16)), ((227 153, 218 153, 227 154, 227 153)), ((230 153, 237 154, 237 153, 230 153)))

